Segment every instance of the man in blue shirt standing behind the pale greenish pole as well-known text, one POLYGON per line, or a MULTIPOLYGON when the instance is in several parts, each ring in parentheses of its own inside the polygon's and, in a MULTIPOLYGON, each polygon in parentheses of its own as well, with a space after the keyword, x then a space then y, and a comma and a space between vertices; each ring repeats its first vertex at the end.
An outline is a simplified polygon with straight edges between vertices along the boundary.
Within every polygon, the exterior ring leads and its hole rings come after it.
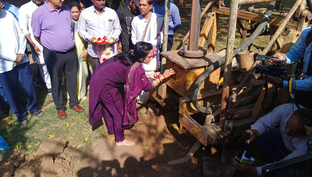
MULTIPOLYGON (((173 34, 181 26, 181 17, 179 9, 173 1, 170 1, 170 14, 169 14, 169 29, 168 29, 168 47, 170 51, 173 45, 173 34)), ((165 16, 165 0, 153 0, 152 12, 165 16)), ((161 49, 162 50, 162 49, 161 49)), ((161 51, 159 51, 161 52, 161 51)))

